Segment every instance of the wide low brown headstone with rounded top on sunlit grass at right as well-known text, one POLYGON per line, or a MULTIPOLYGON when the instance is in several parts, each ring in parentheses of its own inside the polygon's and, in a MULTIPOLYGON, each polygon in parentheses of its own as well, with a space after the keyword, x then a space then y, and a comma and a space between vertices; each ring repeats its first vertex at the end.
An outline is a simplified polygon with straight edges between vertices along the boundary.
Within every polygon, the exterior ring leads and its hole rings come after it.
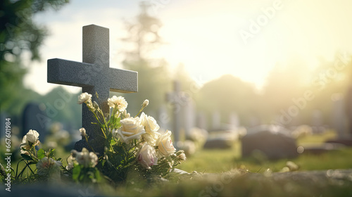
POLYGON ((249 129, 241 139, 242 157, 261 153, 268 159, 295 158, 296 140, 284 127, 277 125, 261 125, 249 129))

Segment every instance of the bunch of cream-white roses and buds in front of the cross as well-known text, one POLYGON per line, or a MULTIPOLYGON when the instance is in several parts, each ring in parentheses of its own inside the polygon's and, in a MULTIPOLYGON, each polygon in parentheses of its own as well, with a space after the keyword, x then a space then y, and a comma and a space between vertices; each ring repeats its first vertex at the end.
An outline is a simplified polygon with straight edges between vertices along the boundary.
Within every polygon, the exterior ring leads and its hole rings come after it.
MULTIPOLYGON (((92 95, 90 94, 82 93, 78 96, 78 103, 86 103, 87 106, 91 105, 91 97, 92 95)), ((108 98, 108 106, 114 108, 113 110, 118 112, 118 117, 122 118, 122 120, 120 120, 121 126, 118 129, 113 129, 112 131, 113 137, 125 144, 130 144, 134 141, 134 139, 137 139, 139 143, 142 143, 142 147, 139 148, 136 158, 143 167, 150 169, 152 165, 157 164, 158 159, 175 153, 176 149, 173 146, 170 137, 171 132, 166 131, 164 134, 159 133, 158 130, 160 127, 156 120, 145 113, 142 113, 140 117, 130 117, 130 114, 126 111, 127 105, 127 101, 125 101, 125 98, 122 96, 113 96, 112 98, 108 98)), ((142 103, 142 109, 139 113, 141 113, 143 108, 148 105, 149 101, 147 99, 144 100, 142 103)), ((82 136, 85 136, 84 129, 80 129, 80 132, 82 136)), ((82 154, 87 155, 88 152, 85 153, 83 150, 82 154)), ((73 154, 73 157, 78 163, 80 163, 79 160, 82 160, 81 163, 87 164, 87 161, 83 161, 89 160, 87 156, 84 158, 83 156, 81 157, 75 155, 77 155, 77 153, 73 154)), ((183 158, 185 159, 184 155, 181 156, 181 159, 183 158)))

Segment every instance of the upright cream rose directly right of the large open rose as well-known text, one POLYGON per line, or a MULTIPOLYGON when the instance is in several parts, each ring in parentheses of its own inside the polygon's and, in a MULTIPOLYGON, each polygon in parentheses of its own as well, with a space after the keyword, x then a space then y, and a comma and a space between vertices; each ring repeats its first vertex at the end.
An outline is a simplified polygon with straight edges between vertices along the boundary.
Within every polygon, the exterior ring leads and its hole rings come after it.
POLYGON ((142 113, 141 121, 141 125, 143 125, 146 130, 146 134, 143 135, 143 139, 151 144, 151 146, 154 146, 156 140, 161 135, 158 133, 158 130, 160 129, 158 123, 156 123, 156 120, 153 117, 146 115, 145 113, 142 113))

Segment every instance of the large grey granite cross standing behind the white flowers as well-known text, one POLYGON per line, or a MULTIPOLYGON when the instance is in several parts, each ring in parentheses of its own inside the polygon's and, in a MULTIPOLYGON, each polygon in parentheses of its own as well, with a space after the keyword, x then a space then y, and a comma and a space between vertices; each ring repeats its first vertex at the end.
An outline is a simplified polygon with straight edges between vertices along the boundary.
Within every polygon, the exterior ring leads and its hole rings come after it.
MULTIPOLYGON (((109 30, 97 25, 83 27, 83 63, 63 59, 48 60, 48 82, 82 87, 82 92, 92 94, 92 101, 96 101, 104 114, 109 113, 107 99, 110 91, 136 92, 138 91, 138 73, 109 67, 109 30), (95 94, 99 98, 95 99, 95 94)), ((87 130, 89 144, 98 146, 96 152, 102 152, 103 146, 99 138, 101 133, 92 112, 82 105, 82 127, 87 130), (92 143, 90 142, 92 141, 92 143)), ((84 139, 77 141, 77 151, 87 147, 84 139)))

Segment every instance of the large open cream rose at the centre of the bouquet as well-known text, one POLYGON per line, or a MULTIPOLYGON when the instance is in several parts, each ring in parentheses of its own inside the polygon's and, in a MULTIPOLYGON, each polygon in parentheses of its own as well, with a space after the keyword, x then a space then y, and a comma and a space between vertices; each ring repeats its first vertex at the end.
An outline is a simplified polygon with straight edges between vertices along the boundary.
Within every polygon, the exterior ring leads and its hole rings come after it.
POLYGON ((126 144, 132 139, 141 139, 141 135, 146 133, 139 117, 127 117, 120 120, 120 124, 121 127, 114 132, 114 136, 126 144))

